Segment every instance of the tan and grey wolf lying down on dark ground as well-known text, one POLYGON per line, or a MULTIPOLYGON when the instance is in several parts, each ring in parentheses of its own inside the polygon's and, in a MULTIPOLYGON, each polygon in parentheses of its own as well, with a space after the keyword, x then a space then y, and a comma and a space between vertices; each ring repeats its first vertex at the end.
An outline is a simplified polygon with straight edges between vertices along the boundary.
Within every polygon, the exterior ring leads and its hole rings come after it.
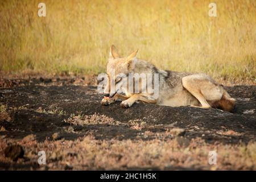
MULTIPOLYGON (((158 69, 148 61, 137 59, 137 51, 127 57, 121 57, 114 45, 110 47, 109 60, 107 64, 108 82, 104 89, 102 105, 110 105, 116 101, 122 101, 121 107, 131 107, 135 102, 142 101, 150 104, 163 106, 192 106, 209 109, 232 111, 236 100, 226 92, 222 85, 218 84, 205 73, 185 73, 175 71, 165 71, 158 69), (110 77, 111 70, 115 75, 110 77), (122 78, 118 74, 124 75, 122 78), (123 84, 123 78, 127 78, 130 73, 152 73, 158 74, 158 97, 152 97, 152 93, 147 93, 146 87, 142 86, 139 80, 139 93, 128 92, 124 86, 122 92, 118 94, 110 92, 110 82, 114 85, 123 84), (144 92, 143 92, 144 91, 144 92)), ((134 85, 133 85, 134 86, 134 85)))

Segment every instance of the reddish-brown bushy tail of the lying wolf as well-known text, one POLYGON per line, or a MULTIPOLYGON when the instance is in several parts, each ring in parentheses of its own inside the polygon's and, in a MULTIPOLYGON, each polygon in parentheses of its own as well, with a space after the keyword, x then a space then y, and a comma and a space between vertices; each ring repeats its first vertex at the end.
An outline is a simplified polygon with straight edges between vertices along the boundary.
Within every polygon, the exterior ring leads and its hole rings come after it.
POLYGON ((234 109, 234 105, 236 104, 236 100, 224 90, 221 100, 218 101, 218 106, 225 111, 232 111, 234 109))

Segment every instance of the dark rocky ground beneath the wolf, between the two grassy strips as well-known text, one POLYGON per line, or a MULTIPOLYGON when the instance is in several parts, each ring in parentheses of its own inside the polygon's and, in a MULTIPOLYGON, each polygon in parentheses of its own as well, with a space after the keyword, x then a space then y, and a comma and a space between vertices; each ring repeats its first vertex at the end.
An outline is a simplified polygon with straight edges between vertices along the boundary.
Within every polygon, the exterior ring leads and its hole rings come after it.
MULTIPOLYGON (((102 106, 102 95, 97 93, 96 86, 74 84, 75 80, 68 79, 20 82, 15 85, 15 81, 5 80, 0 88, 0 140, 5 141, 2 147, 23 141, 30 134, 39 143, 46 139, 75 142, 88 135, 93 135, 94 140, 172 140, 174 128, 184 130, 181 143, 200 138, 206 144, 232 146, 246 145, 256 139, 256 86, 225 87, 237 100, 235 109, 229 113, 150 104, 134 104, 123 109, 120 102, 102 106), (169 131, 170 135, 166 135, 169 131), (144 137, 145 132, 151 135, 144 137)), ((29 164, 20 168, 27 169, 29 164)), ((2 160, 0 168, 19 167, 10 167, 9 162, 2 160)))

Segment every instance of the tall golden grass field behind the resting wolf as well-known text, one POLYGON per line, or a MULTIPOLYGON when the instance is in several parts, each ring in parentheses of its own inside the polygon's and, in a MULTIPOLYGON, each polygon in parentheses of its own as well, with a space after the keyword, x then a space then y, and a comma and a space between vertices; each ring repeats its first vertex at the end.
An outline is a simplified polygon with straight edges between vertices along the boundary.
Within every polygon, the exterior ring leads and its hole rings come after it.
POLYGON ((210 2, 1 1, 0 69, 97 74, 115 44, 158 68, 255 81, 256 1, 214 1, 217 17, 210 2))

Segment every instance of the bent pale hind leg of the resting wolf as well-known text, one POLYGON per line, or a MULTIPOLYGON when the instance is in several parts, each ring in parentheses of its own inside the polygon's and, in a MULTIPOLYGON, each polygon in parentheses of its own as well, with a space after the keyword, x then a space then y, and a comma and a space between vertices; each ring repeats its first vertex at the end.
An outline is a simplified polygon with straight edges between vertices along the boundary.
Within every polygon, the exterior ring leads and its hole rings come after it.
POLYGON ((223 89, 212 78, 204 74, 183 77, 182 84, 188 92, 199 100, 200 107, 204 109, 211 107, 207 101, 218 101, 223 94, 223 89))

